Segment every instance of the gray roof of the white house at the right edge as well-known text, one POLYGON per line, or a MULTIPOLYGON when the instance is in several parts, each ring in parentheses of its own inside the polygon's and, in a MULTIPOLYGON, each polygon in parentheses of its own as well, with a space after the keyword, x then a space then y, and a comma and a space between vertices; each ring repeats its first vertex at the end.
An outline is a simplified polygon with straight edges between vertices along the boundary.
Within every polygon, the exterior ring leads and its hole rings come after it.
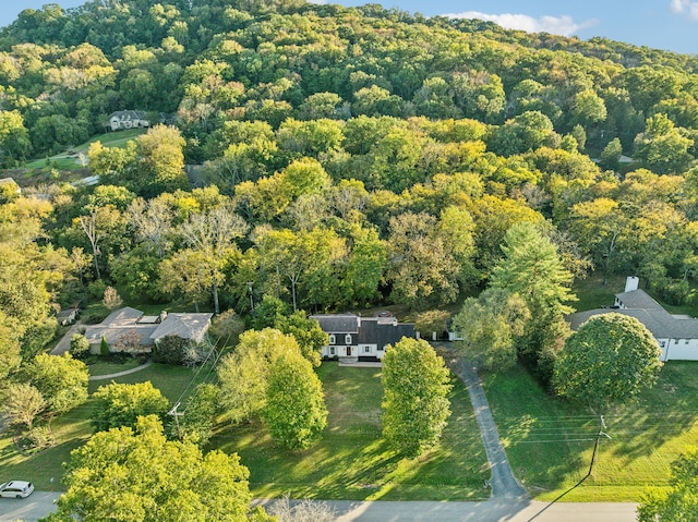
POLYGON ((577 312, 567 316, 573 330, 594 315, 615 312, 635 317, 642 323, 657 339, 698 339, 698 319, 674 316, 654 301, 643 290, 617 293, 616 298, 626 308, 597 308, 577 312))

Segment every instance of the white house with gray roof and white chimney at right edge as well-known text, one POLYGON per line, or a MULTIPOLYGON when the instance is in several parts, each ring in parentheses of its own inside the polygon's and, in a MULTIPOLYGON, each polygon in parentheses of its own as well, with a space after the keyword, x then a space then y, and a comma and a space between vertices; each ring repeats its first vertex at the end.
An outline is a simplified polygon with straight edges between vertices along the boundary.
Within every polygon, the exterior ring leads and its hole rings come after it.
POLYGON ((637 278, 628 278, 625 292, 615 294, 613 307, 578 312, 567 319, 576 330, 591 317, 610 312, 642 323, 662 349, 662 361, 698 361, 698 319, 666 312, 645 290, 638 289, 637 278))

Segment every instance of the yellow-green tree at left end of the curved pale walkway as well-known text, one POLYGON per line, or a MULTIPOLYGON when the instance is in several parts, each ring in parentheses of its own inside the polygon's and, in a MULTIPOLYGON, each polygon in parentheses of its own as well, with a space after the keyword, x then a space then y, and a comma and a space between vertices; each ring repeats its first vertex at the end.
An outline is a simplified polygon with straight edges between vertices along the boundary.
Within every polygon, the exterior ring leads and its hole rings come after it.
POLYGON ((27 381, 39 390, 48 412, 52 414, 72 410, 87 400, 87 366, 70 353, 39 353, 25 366, 24 373, 27 381))

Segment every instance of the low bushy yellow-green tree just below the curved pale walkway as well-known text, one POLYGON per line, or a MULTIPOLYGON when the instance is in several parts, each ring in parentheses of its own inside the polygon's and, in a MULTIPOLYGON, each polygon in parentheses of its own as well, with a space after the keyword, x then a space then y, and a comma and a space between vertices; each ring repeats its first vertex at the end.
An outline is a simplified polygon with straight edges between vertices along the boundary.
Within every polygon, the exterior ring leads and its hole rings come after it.
POLYGON ((93 393, 95 405, 91 421, 95 432, 121 426, 133 427, 140 416, 165 416, 169 401, 149 380, 134 385, 111 383, 93 393))

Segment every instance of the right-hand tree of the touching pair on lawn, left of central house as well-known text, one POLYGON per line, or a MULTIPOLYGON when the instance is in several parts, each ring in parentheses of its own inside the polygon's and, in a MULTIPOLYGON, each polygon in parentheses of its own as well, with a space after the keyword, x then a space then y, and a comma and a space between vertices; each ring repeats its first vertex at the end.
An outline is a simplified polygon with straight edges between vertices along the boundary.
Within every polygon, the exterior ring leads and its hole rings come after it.
POLYGON ((322 383, 300 353, 284 352, 272 364, 262 416, 274 440, 289 449, 309 448, 327 426, 322 383))

